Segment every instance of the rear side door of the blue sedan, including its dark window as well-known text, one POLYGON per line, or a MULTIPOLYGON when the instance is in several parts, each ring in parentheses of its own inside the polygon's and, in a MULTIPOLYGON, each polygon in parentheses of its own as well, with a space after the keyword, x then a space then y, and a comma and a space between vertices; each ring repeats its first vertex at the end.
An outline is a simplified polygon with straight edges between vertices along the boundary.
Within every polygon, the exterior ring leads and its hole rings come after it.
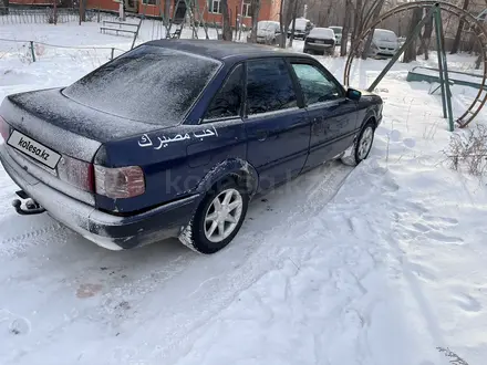
POLYGON ((260 190, 297 176, 304 166, 310 123, 296 86, 284 59, 247 62, 247 159, 259 173, 260 190))

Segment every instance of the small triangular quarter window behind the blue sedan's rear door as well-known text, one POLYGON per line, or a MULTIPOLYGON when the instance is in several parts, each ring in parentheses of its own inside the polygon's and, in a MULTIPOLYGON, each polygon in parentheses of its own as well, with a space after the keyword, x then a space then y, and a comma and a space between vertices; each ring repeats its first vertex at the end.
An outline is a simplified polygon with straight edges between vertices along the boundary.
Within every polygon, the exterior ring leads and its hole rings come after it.
POLYGON ((239 116, 242 101, 244 66, 238 65, 215 95, 205 119, 239 116))

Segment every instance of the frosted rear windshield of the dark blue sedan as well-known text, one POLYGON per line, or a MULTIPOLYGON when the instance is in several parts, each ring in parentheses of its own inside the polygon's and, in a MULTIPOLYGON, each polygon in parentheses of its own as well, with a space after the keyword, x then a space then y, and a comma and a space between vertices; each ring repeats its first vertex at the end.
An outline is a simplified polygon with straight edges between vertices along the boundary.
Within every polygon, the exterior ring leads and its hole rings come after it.
POLYGON ((124 118, 179 123, 219 69, 216 60, 142 45, 63 90, 83 105, 124 118))

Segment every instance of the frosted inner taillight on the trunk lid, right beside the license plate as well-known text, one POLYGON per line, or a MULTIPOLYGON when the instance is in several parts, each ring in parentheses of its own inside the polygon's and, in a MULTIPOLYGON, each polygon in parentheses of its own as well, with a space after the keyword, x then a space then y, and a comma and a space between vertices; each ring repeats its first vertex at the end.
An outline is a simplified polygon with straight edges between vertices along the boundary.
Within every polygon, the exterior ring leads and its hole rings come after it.
POLYGON ((94 191, 93 175, 92 164, 69 156, 63 156, 58 164, 59 178, 84 191, 94 191))

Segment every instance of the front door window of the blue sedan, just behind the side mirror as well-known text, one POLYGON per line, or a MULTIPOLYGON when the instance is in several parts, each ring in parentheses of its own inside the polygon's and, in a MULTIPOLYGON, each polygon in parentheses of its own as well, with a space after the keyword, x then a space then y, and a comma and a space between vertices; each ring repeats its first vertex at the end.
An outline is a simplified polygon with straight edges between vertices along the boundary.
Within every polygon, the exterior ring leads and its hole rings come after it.
POLYGON ((318 67, 305 63, 293 63, 292 69, 298 76, 307 105, 343 97, 343 91, 336 82, 329 79, 318 67))

